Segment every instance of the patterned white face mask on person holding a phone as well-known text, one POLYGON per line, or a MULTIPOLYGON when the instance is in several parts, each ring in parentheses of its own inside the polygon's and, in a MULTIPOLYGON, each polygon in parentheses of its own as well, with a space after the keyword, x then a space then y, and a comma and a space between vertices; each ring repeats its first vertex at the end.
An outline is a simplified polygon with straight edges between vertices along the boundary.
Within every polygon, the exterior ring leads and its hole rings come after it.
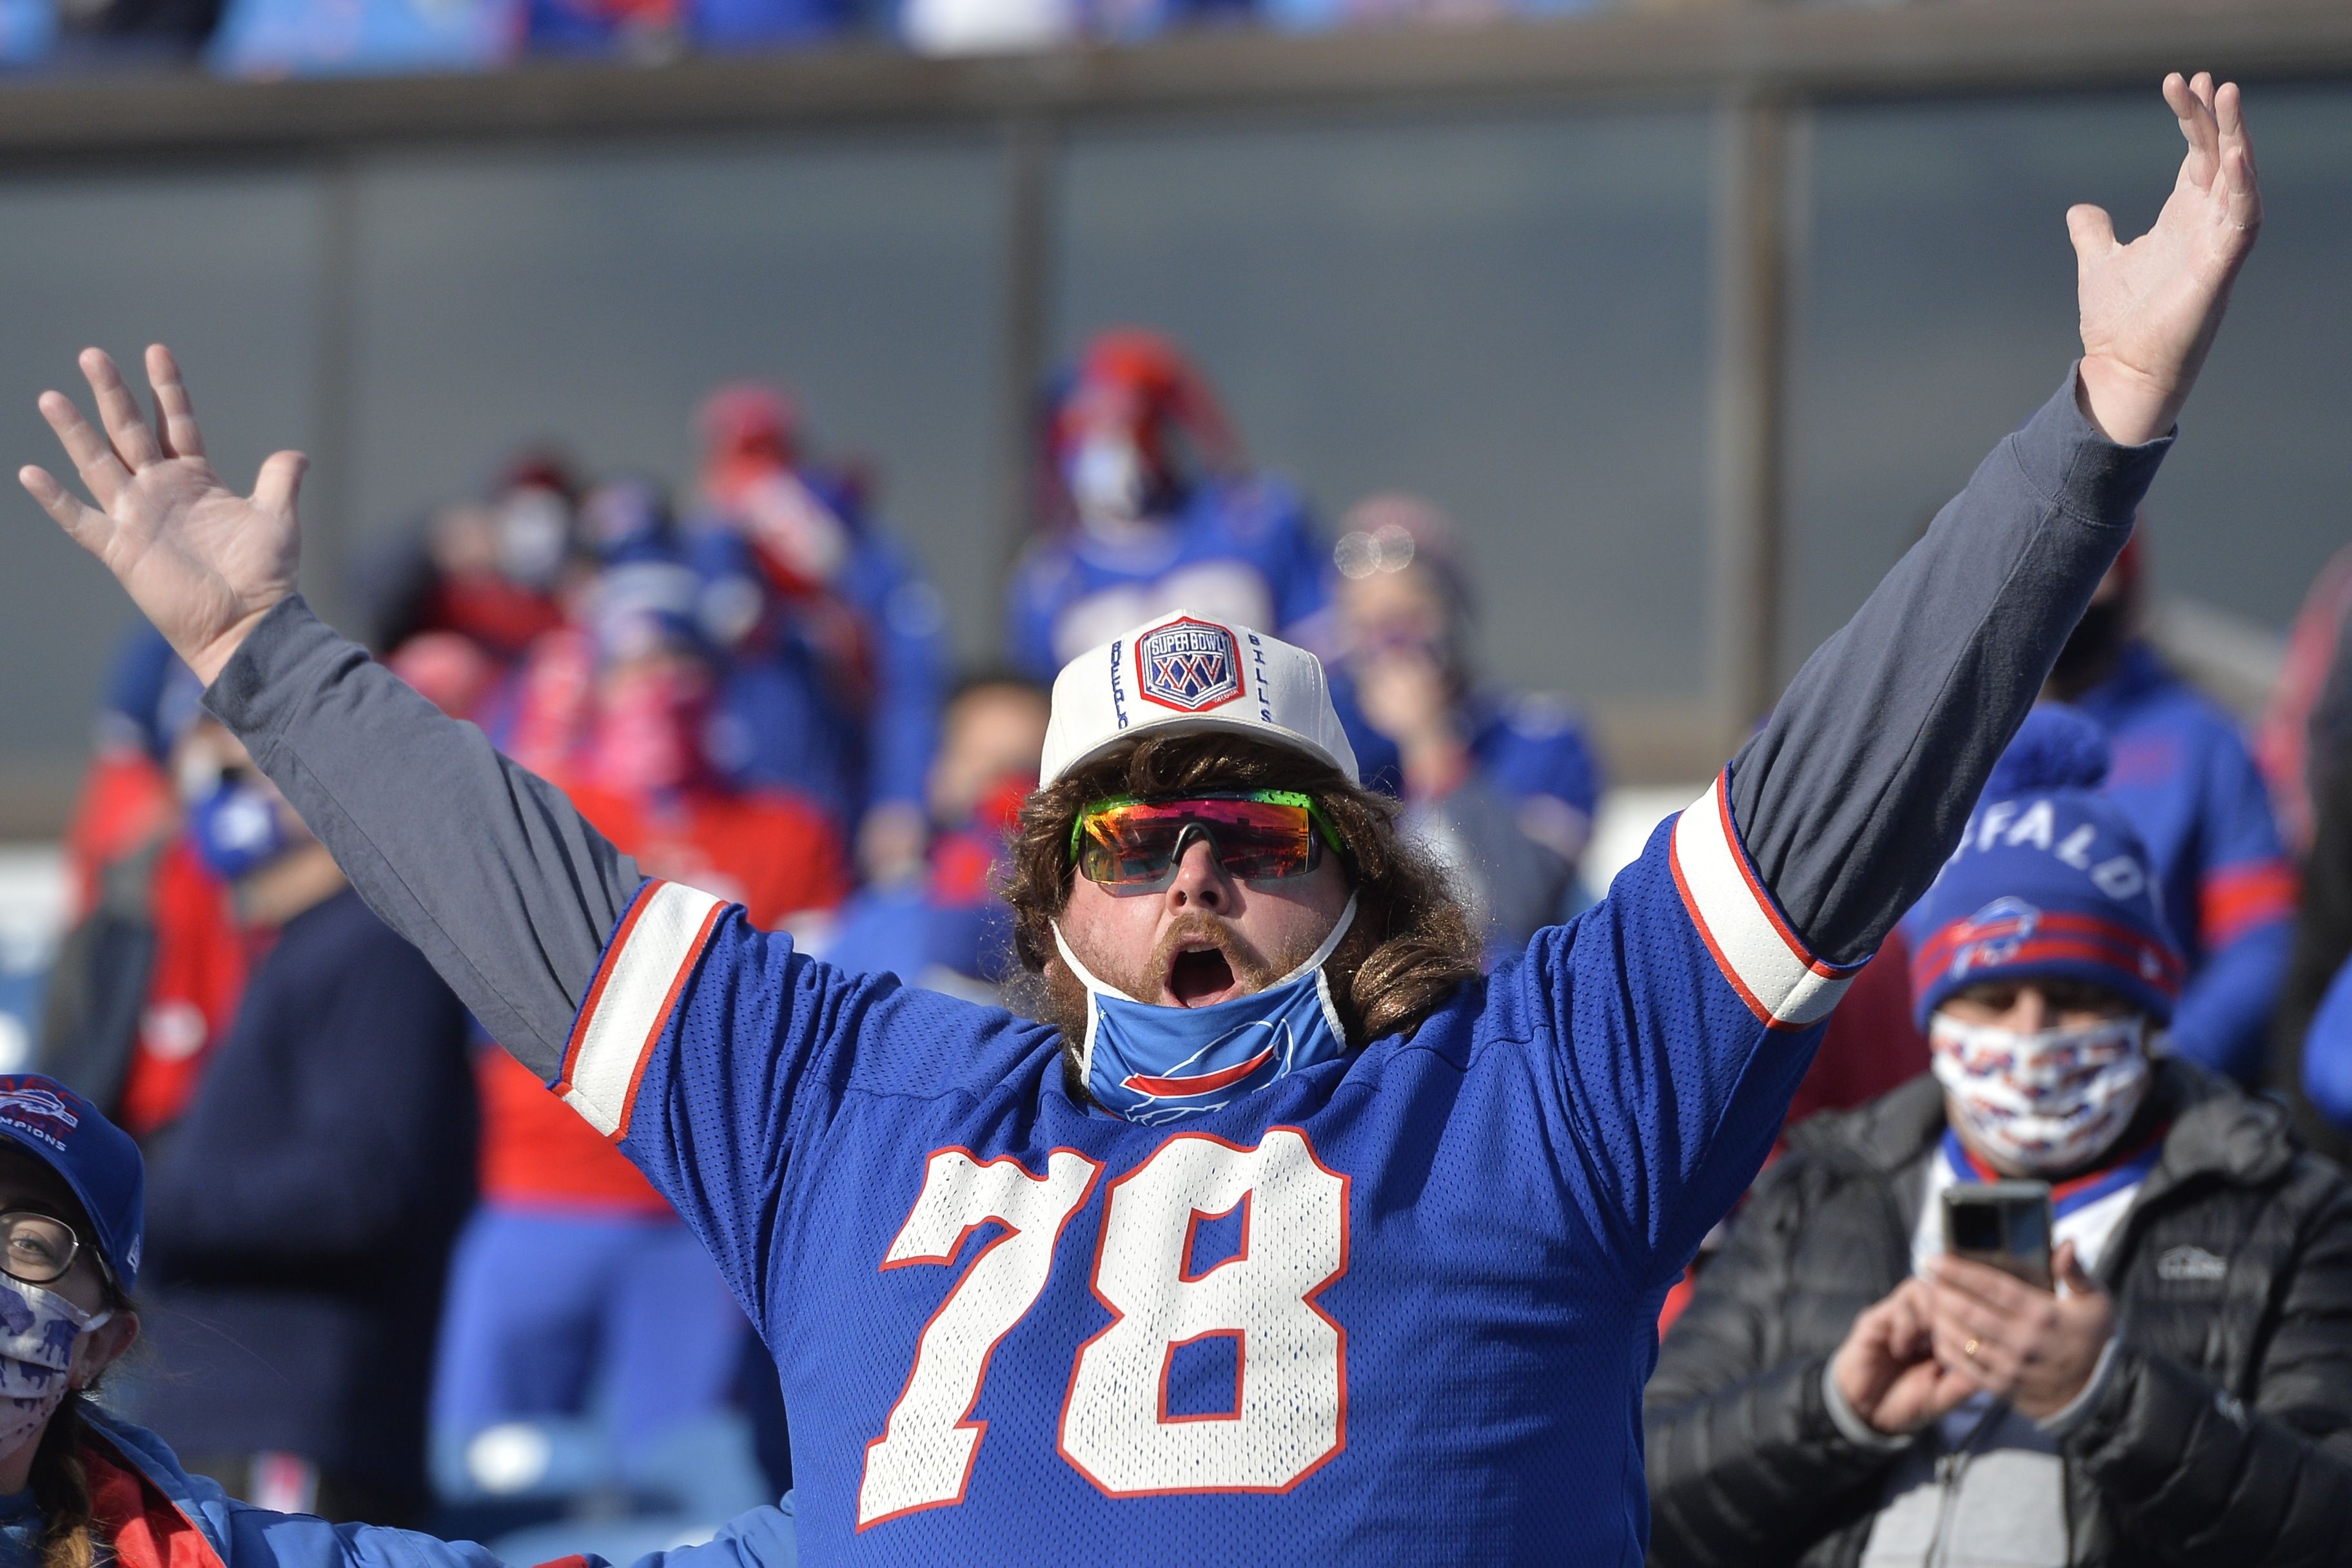
POLYGON ((2002 1030, 1936 1013, 1936 1081, 1987 1154, 2034 1175, 2079 1171, 2147 1095, 2147 1023, 2103 1018, 2063 1030, 2002 1030))

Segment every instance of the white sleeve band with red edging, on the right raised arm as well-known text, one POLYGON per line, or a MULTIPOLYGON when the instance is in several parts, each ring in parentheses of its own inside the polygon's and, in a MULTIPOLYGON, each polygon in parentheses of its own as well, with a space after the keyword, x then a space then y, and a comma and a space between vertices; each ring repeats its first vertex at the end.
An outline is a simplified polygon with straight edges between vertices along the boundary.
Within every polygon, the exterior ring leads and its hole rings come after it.
POLYGON ((1672 863, 1698 938, 1764 1027, 1804 1030, 1830 1016, 1853 971, 1816 959, 1780 917, 1731 827, 1722 773, 1675 820, 1672 863))

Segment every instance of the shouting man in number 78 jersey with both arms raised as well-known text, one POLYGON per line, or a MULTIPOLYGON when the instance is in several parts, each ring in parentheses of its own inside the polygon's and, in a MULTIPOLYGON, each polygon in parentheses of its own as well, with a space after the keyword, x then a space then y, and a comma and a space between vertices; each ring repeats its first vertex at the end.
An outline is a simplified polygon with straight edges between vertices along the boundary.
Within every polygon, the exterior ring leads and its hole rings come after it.
POLYGON ((635 1159, 779 1359, 811 1561, 1637 1563, 1665 1288, 2122 548, 2260 200, 2234 87, 2154 230, 2070 214, 2084 355, 1705 797, 1494 978, 1322 665, 1164 616, 1054 684, 1007 898, 1042 1023, 644 882, 294 595, 82 355, 38 501, 353 884, 635 1159), (1305 797, 1301 804, 1296 797, 1305 797))

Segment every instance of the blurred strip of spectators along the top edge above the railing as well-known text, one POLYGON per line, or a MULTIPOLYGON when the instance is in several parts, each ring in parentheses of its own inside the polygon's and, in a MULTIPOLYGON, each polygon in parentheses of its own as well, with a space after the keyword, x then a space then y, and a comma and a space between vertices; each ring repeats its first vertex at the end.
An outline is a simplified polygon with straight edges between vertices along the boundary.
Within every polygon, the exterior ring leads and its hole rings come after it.
POLYGON ((249 80, 661 63, 887 40, 922 54, 1131 45, 1181 31, 1461 24, 1602 0, 0 0, 0 68, 202 63, 249 80))

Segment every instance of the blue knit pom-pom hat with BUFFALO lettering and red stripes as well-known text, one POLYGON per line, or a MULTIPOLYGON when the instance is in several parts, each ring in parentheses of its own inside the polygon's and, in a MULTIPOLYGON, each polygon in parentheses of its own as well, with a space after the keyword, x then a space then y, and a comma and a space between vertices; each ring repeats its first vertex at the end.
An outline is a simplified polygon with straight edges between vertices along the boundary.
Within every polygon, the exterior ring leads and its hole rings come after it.
POLYGON ((2112 799, 2107 741, 2042 703, 1992 764, 1976 813, 1919 900, 1912 997, 1919 1025, 1964 985, 2086 980, 2159 1025, 2180 997, 2147 846, 2112 799))

